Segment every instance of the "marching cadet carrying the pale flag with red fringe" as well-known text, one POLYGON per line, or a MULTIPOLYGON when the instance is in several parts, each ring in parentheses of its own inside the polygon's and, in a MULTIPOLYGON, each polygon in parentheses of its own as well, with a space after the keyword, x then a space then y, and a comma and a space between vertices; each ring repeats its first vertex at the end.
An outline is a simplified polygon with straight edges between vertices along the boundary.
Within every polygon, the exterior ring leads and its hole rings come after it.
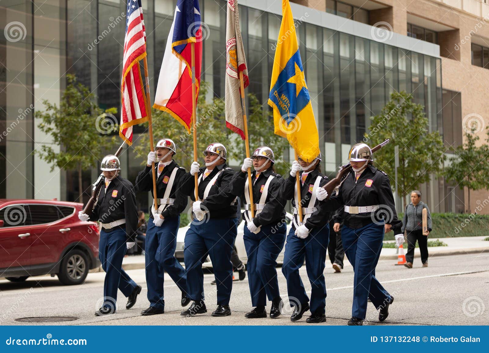
POLYGON ((258 147, 251 158, 244 159, 241 172, 231 183, 231 193, 246 200, 244 210, 244 247, 248 255, 248 284, 251 293, 251 304, 255 309, 246 313, 247 318, 267 317, 265 306, 272 302, 270 318, 280 316, 284 302, 280 297, 277 279, 277 257, 284 248, 285 204, 287 200, 279 197, 284 179, 275 173, 273 151, 270 147, 258 147), (248 173, 253 166, 251 175, 253 183, 253 201, 255 217, 251 219, 248 173))

